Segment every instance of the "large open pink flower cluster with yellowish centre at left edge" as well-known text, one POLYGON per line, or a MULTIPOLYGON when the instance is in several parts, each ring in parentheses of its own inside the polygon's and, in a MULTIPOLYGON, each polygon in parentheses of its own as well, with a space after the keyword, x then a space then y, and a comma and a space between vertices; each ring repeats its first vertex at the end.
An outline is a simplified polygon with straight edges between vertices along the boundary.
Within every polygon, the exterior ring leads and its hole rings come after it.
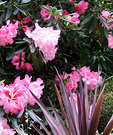
POLYGON ((32 77, 28 75, 20 80, 18 76, 13 84, 0 85, 0 106, 3 106, 5 113, 18 114, 19 111, 24 112, 24 108, 29 103, 34 105, 36 103, 34 97, 31 95, 31 90, 39 99, 43 93, 43 81, 37 78, 36 81, 31 82, 32 77))

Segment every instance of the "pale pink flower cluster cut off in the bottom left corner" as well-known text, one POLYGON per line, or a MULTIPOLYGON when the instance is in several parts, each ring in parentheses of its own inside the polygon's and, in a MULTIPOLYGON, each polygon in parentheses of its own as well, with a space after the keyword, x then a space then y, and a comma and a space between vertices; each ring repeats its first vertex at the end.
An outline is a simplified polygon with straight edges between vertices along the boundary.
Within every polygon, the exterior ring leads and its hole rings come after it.
POLYGON ((15 135, 16 132, 9 127, 7 119, 0 117, 0 135, 15 135))

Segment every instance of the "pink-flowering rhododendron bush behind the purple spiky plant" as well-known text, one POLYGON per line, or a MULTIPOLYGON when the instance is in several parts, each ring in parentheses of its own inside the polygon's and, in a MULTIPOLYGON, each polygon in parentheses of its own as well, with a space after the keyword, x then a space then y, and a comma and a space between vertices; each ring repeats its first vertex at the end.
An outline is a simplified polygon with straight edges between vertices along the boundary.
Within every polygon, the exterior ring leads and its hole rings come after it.
POLYGON ((0 1, 0 116, 32 133, 26 110, 39 111, 29 90, 47 106, 48 96, 56 103, 54 66, 63 73, 68 96, 71 90, 75 102, 79 76, 89 92, 102 76, 111 76, 112 9, 104 0, 0 1), (23 125, 18 123, 20 115, 26 119, 23 125))

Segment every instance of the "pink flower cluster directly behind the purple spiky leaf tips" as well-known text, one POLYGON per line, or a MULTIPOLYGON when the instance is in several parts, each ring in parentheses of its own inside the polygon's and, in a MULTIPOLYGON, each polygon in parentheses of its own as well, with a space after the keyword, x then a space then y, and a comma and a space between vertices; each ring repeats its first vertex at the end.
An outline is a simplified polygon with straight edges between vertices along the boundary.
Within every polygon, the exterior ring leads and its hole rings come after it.
MULTIPOLYGON (((70 94, 70 90, 72 90, 73 92, 76 91, 77 87, 78 87, 78 82, 80 81, 80 76, 82 77, 82 81, 85 83, 87 83, 87 87, 89 90, 94 90, 96 88, 97 83, 101 83, 102 81, 102 77, 100 76, 101 72, 94 72, 94 71, 90 71, 89 67, 82 67, 79 70, 76 70, 75 67, 72 68, 72 73, 67 74, 67 73, 63 73, 63 75, 61 75, 62 79, 64 80, 65 83, 65 88, 68 94, 70 94), (68 80, 66 80, 68 78, 68 80), (98 81, 97 81, 98 79, 98 81)), ((58 77, 56 76, 55 78, 56 81, 58 81, 58 77)))

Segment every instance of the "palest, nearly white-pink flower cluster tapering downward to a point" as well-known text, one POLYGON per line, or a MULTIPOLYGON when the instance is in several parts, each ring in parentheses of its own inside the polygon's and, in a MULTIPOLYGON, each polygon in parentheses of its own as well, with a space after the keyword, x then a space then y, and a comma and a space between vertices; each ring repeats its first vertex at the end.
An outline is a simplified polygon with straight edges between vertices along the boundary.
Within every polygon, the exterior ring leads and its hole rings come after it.
POLYGON ((35 30, 32 32, 27 30, 25 32, 26 35, 34 40, 35 47, 42 51, 46 62, 54 59, 60 30, 53 30, 52 27, 41 28, 37 22, 35 23, 35 27, 35 30))

